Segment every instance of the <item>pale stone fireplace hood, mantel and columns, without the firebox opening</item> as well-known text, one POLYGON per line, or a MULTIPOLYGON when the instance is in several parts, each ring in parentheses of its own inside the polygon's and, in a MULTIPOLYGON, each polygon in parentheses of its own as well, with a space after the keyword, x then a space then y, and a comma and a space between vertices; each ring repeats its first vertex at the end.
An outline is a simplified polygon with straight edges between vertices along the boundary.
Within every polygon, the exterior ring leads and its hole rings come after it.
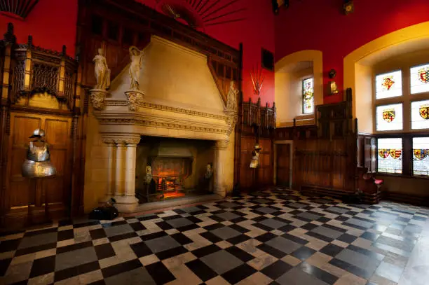
POLYGON ((225 111, 207 57, 158 36, 152 36, 143 53, 139 94, 129 90, 125 67, 112 81, 104 107, 93 109, 98 135, 107 143, 109 156, 116 157, 109 160, 105 198, 115 196, 120 211, 134 211, 135 147, 143 135, 217 141, 214 190, 226 195, 233 187, 237 117, 225 111))

